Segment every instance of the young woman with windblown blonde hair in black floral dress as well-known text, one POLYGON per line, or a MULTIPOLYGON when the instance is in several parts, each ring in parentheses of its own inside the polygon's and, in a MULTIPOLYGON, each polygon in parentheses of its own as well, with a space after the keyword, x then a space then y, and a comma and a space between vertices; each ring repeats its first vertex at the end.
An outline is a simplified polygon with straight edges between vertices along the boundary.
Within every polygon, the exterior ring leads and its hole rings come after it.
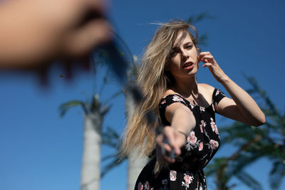
POLYGON ((219 148, 215 112, 259 126, 265 116, 256 102, 219 67, 209 52, 199 53, 194 26, 181 20, 164 23, 147 46, 138 73, 145 100, 128 119, 123 153, 141 149, 151 158, 135 189, 207 189, 203 168, 219 148), (197 83, 199 62, 232 97, 211 85, 197 83), (159 119, 149 125, 143 115, 155 110, 159 119), (162 134, 155 135, 161 123, 162 134), (161 149, 172 150, 167 157, 161 149), (156 151, 155 151, 156 150, 156 151))

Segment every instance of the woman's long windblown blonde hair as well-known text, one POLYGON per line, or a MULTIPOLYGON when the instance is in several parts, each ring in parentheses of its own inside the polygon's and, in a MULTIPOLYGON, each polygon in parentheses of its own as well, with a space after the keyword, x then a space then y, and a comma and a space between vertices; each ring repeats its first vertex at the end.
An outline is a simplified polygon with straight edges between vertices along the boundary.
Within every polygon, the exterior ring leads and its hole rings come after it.
MULTIPOLYGON (((189 34, 196 48, 197 31, 194 26, 180 19, 171 20, 167 23, 158 23, 155 36, 145 48, 142 63, 138 72, 137 83, 145 100, 136 106, 133 113, 127 118, 127 125, 123 135, 121 154, 128 155, 133 149, 140 149, 138 153, 150 157, 155 149, 155 130, 160 124, 160 118, 154 124, 147 123, 145 113, 153 110, 159 115, 159 102, 162 95, 173 83, 174 79, 170 72, 165 70, 170 63, 170 53, 180 31, 189 34)), ((183 39, 180 39, 182 41, 183 39)), ((178 42, 180 43, 180 42, 178 42)), ((155 170, 160 169, 156 166, 155 170)))

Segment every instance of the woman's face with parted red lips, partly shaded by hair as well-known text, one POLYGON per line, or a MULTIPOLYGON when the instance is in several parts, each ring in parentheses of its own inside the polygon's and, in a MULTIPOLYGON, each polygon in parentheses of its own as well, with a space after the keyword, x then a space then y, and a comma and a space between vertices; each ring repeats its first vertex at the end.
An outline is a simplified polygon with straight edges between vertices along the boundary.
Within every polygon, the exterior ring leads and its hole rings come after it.
POLYGON ((178 32, 174 44, 172 52, 170 52, 170 63, 166 70, 169 70, 175 79, 195 76, 199 66, 197 49, 189 33, 178 32))

